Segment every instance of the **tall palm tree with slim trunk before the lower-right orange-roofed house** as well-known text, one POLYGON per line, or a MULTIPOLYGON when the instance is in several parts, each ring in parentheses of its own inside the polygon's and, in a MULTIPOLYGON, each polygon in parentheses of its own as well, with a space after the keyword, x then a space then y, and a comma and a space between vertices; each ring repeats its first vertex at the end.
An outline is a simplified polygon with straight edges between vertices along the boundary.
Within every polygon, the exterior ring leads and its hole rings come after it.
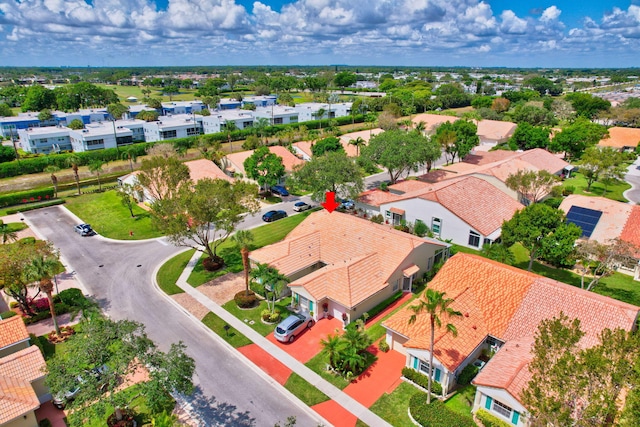
MULTIPOLYGON (((417 316, 422 313, 429 315, 429 322, 431 325, 431 341, 429 343, 429 378, 427 388, 427 405, 431 403, 431 382, 433 376, 433 347, 435 344, 435 331, 436 327, 442 326, 443 315, 447 317, 462 316, 462 313, 449 307, 453 303, 452 298, 445 298, 445 292, 439 292, 434 289, 427 288, 424 292, 423 298, 420 299, 417 305, 409 307, 413 310, 413 314, 409 318, 409 324, 415 323, 417 316)), ((458 330, 455 325, 447 323, 447 332, 451 332, 453 336, 458 335, 458 330)))

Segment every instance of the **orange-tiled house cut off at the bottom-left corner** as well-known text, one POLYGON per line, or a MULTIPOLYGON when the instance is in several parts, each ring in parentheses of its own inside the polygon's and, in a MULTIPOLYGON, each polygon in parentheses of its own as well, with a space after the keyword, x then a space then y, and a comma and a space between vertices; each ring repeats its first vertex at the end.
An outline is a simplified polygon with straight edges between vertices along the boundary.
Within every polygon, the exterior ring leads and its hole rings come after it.
POLYGON ((46 363, 19 316, 0 320, 0 425, 37 427, 35 411, 51 399, 46 363))

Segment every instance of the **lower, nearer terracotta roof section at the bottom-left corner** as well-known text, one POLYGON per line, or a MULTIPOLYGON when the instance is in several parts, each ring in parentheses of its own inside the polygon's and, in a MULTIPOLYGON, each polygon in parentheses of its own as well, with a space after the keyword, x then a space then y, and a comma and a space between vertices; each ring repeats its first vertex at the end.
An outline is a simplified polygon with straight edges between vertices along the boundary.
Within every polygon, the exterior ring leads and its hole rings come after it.
POLYGON ((31 382, 45 375, 45 367, 36 346, 0 359, 0 424, 40 407, 31 382))

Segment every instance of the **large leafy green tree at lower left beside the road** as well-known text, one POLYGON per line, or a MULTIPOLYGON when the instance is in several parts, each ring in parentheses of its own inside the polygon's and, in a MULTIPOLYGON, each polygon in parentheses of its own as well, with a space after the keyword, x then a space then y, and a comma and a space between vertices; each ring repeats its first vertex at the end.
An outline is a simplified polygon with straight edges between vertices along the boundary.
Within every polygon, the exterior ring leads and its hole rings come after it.
MULTIPOLYGON (((68 404, 72 409, 83 408, 92 419, 114 411, 116 419, 122 419, 123 409, 141 395, 153 412, 160 412, 172 404, 170 393, 193 392, 195 362, 186 355, 184 344, 171 344, 163 353, 147 337, 144 326, 130 320, 94 315, 81 326, 81 332, 65 343, 69 351, 47 361, 45 383, 53 395, 77 387, 78 377, 82 378, 80 391, 68 404), (90 371, 102 366, 107 369, 99 374, 90 371), (140 393, 117 393, 122 379, 139 370, 149 375, 148 381, 137 385, 140 393)), ((81 425, 81 418, 76 425, 81 425)))

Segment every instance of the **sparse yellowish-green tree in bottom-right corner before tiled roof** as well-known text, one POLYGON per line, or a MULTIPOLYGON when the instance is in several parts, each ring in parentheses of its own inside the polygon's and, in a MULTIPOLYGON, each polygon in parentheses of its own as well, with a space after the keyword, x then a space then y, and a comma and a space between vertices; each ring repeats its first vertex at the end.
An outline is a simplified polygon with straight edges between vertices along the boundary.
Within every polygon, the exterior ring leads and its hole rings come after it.
POLYGON ((522 400, 535 426, 610 426, 621 392, 637 387, 639 336, 605 329, 584 348, 578 319, 563 313, 538 326, 522 400))

